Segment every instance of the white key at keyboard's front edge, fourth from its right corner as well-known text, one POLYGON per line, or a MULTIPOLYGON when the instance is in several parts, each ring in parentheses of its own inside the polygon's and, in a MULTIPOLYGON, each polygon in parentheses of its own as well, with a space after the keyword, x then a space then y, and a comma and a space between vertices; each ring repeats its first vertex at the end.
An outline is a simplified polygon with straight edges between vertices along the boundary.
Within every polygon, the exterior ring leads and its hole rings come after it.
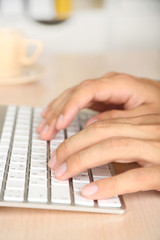
POLYGON ((47 202, 47 188, 43 186, 31 186, 28 192, 28 201, 30 202, 47 202))

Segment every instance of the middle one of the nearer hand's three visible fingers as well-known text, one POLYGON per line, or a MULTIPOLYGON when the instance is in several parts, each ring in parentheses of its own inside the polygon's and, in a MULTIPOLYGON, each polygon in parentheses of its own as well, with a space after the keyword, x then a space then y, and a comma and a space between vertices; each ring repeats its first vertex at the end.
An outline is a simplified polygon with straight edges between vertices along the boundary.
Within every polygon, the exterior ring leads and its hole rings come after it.
POLYGON ((145 160, 158 164, 159 157, 158 142, 121 137, 111 138, 73 154, 55 169, 55 176, 60 180, 65 180, 88 168, 109 162, 129 163, 145 160))

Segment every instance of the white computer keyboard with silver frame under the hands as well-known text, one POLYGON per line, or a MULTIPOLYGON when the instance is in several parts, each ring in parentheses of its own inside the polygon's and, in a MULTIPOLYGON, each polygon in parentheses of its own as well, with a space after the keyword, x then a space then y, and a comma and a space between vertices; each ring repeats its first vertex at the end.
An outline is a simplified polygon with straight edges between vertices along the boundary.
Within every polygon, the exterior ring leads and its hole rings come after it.
POLYGON ((47 165, 52 151, 83 129, 93 113, 80 112, 53 140, 42 141, 36 132, 41 111, 28 106, 0 106, 0 206, 124 213, 121 196, 88 200, 80 194, 87 183, 111 177, 111 164, 88 169, 65 181, 56 179, 47 165))

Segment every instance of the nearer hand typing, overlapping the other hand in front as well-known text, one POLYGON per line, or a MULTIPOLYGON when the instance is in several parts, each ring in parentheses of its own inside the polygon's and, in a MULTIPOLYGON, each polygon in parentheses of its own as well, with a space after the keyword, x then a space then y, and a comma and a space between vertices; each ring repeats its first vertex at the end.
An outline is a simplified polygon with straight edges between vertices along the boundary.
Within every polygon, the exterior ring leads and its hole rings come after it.
POLYGON ((97 121, 66 139, 52 153, 49 167, 59 180, 110 162, 142 167, 102 179, 82 189, 89 199, 160 191, 160 115, 97 121), (96 136, 96 137, 95 137, 96 136))

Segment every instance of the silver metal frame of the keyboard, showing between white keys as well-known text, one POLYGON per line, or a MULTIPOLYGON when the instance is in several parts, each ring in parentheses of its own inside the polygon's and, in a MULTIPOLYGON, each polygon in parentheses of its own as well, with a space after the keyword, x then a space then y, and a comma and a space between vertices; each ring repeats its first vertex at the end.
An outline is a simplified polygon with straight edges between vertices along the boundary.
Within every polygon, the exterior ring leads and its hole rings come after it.
MULTIPOLYGON (((1 106, 0 105, 0 136, 1 132, 3 129, 3 123, 4 123, 4 118, 5 118, 5 113, 6 109, 8 106, 1 106)), ((19 106, 17 106, 19 107, 19 106)), ((74 204, 74 194, 73 194, 73 183, 72 183, 72 178, 69 179, 69 187, 70 187, 70 196, 71 196, 71 204, 57 204, 57 203, 52 203, 51 202, 51 171, 47 166, 47 174, 48 174, 48 179, 47 179, 47 187, 48 187, 48 199, 49 201, 47 203, 39 203, 39 202, 29 202, 27 201, 28 197, 28 185, 29 185, 29 170, 30 170, 30 158, 31 158, 31 146, 32 146, 32 120, 33 120, 33 109, 32 108, 32 115, 31 115, 31 128, 30 128, 30 137, 29 137, 29 149, 28 149, 28 157, 27 157, 27 168, 26 168, 26 176, 25 176, 25 191, 24 191, 24 201, 22 202, 16 202, 16 201, 5 201, 3 199, 4 196, 4 191, 5 191, 5 184, 7 180, 7 175, 8 175, 8 169, 9 169, 9 163, 10 163, 10 156, 11 156, 11 151, 12 151, 12 145, 13 145, 13 136, 14 136, 14 131, 15 131, 15 125, 16 125, 16 119, 17 119, 17 111, 16 110, 16 117, 15 117, 15 122, 14 122, 14 127, 13 127, 13 132, 12 132, 12 140, 10 142, 10 148, 7 156, 7 161, 5 165, 5 173, 3 177, 3 182, 2 182, 2 188, 1 188, 1 193, 0 193, 0 206, 1 207, 18 207, 18 208, 37 208, 37 209, 52 209, 52 210, 62 210, 62 211, 79 211, 79 212, 97 212, 97 213, 111 213, 111 214, 123 214, 125 213, 125 204, 122 196, 119 196, 119 199, 121 201, 121 207, 99 207, 97 204, 97 201, 94 200, 94 206, 81 206, 81 205, 75 205, 74 204)), ((66 130, 64 130, 65 138, 67 138, 67 133, 66 130)), ((46 162, 49 161, 50 158, 50 144, 49 142, 46 142, 47 144, 47 156, 46 156, 46 162)), ((109 164, 111 174, 115 175, 114 168, 112 164, 109 164)), ((88 170, 88 175, 90 178, 90 181, 93 181, 92 177, 92 172, 89 169, 88 170)))

